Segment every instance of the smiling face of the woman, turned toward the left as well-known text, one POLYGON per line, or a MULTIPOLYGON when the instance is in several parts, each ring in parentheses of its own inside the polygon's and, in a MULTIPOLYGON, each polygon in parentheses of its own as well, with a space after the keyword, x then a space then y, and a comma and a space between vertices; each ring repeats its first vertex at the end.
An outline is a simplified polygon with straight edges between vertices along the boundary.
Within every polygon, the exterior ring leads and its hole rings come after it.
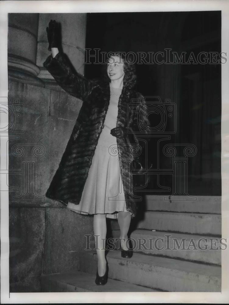
POLYGON ((124 63, 119 56, 112 56, 108 59, 107 75, 112 81, 124 76, 124 63))

